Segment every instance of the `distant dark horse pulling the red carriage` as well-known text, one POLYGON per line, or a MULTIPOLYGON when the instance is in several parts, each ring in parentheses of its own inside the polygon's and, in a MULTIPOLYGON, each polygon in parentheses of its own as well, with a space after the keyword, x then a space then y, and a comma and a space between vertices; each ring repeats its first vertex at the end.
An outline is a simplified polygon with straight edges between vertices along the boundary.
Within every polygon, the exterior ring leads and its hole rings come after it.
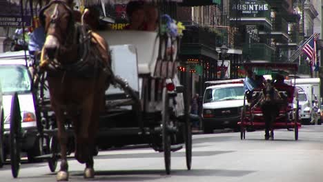
POLYGON ((274 138, 273 123, 280 114, 280 110, 286 107, 287 101, 280 95, 271 81, 266 81, 262 93, 254 107, 260 106, 265 122, 265 139, 274 138), (269 134, 270 132, 270 134, 269 134))

